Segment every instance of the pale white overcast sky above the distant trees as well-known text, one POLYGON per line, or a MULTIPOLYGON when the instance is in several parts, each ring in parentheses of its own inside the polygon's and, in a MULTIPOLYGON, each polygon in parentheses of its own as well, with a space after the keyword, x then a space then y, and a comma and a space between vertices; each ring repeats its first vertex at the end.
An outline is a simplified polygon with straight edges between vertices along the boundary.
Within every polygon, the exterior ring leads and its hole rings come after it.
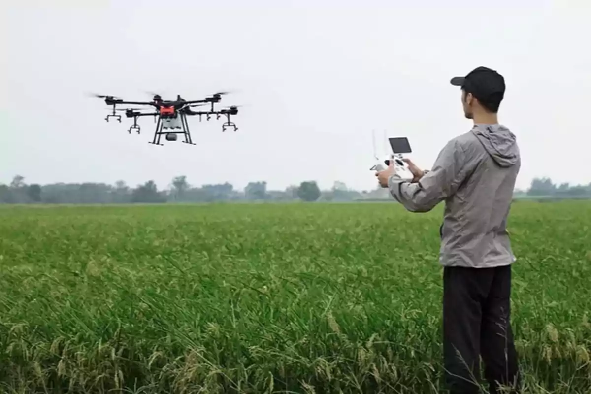
MULTIPOLYGON (((531 178, 591 181, 591 3, 446 1, 2 2, 0 182, 154 180, 284 188, 316 180, 370 189, 372 129, 408 136, 433 164, 469 131, 449 84, 477 66, 505 76, 499 119, 517 135, 531 178), (170 4, 170 5, 168 5, 170 4), (413 4, 413 5, 411 5, 413 4), (247 106, 220 121, 189 118, 196 146, 148 144, 132 119, 106 123, 97 92, 247 106)), ((124 113, 121 113, 124 115, 124 113)))

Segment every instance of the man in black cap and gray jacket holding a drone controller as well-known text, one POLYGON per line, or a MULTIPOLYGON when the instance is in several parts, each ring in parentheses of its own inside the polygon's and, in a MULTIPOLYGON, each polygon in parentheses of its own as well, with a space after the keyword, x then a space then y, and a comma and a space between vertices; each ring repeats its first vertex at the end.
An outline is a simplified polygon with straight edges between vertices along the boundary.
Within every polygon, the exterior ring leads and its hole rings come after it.
POLYGON ((510 317, 511 264, 506 229, 521 166, 515 135, 499 125, 504 78, 486 67, 460 86, 464 115, 473 128, 441 150, 431 171, 408 159, 411 182, 394 167, 376 173, 382 187, 407 210, 426 212, 445 201, 440 227, 443 269, 443 354, 451 393, 479 392, 479 356, 491 393, 520 386, 510 317))

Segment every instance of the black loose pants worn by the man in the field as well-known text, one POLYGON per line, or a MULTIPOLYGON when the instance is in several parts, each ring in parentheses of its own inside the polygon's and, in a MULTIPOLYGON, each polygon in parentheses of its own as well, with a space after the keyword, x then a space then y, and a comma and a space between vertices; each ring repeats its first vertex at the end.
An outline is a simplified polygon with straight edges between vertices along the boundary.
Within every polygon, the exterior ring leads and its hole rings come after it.
POLYGON ((444 268, 443 356, 450 393, 480 392, 479 356, 491 394, 498 393, 497 383, 520 387, 510 297, 511 265, 444 268))

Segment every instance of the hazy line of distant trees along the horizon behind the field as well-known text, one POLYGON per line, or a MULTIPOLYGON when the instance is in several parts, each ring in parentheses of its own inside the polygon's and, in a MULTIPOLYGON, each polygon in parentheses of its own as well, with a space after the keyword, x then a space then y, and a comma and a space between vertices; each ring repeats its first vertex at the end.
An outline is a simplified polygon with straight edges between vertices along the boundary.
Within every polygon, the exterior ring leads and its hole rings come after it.
MULTIPOLYGON (((516 197, 591 198, 588 185, 553 184, 549 178, 534 178, 528 190, 516 190, 516 197)), ((388 199, 388 191, 357 191, 342 181, 329 190, 320 190, 316 181, 303 181, 285 190, 269 190, 267 182, 252 181, 242 190, 230 183, 189 184, 185 175, 174 177, 168 188, 159 190, 153 180, 136 187, 125 181, 106 183, 27 184, 16 175, 11 183, 0 184, 4 204, 126 204, 126 203, 210 203, 214 201, 359 201, 388 199)))

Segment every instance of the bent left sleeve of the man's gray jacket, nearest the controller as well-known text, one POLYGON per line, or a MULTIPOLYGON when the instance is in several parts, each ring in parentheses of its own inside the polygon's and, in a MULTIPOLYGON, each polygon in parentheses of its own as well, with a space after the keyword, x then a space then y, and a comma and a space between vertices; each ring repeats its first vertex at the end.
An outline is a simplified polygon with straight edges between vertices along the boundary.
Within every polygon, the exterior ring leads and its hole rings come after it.
POLYGON ((441 149, 431 171, 416 183, 392 175, 388 188, 392 197, 411 212, 428 212, 452 196, 465 178, 466 156, 462 146, 452 140, 441 149))

